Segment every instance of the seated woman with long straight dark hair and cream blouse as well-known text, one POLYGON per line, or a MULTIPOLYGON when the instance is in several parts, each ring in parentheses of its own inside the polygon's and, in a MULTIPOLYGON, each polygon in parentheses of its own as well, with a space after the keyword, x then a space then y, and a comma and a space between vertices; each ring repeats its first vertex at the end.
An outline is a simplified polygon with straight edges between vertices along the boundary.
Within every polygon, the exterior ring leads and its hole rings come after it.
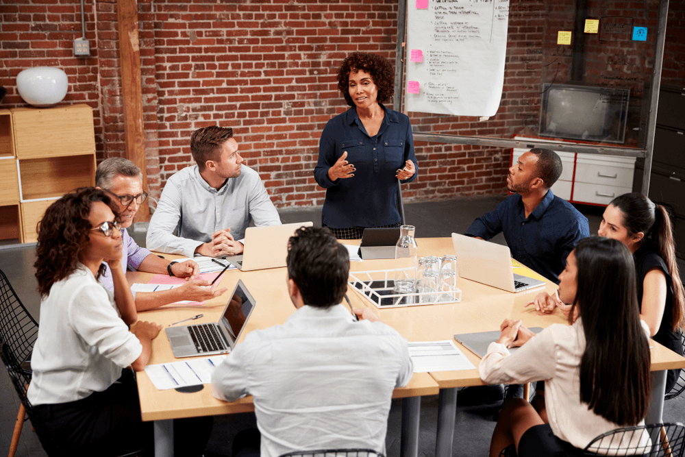
MULTIPOLYGON (((647 413, 649 343, 630 251, 617 240, 585 238, 559 279, 560 298, 571 304, 571 325, 553 324, 532 338, 521 321, 506 320, 481 360, 488 384, 545 380, 549 423, 525 400, 509 399, 493 433, 491 457, 512 443, 519 456, 574 455, 599 434, 643 423, 647 413), (513 346, 523 347, 510 355, 513 346)), ((647 436, 633 440, 633 446, 649 443, 647 436)), ((616 440, 610 446, 626 444, 616 440)))

